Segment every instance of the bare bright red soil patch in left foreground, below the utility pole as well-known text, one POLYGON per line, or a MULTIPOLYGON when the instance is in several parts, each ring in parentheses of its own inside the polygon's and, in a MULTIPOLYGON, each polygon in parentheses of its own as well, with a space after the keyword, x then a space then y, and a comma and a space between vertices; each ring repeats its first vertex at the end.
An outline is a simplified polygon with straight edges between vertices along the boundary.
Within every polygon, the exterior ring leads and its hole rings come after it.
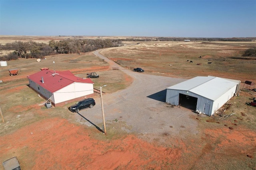
POLYGON ((23 127, 1 137, 0 143, 0 155, 13 153, 21 169, 158 169, 181 155, 178 149, 155 147, 134 135, 111 142, 91 139, 84 127, 59 118, 23 127))

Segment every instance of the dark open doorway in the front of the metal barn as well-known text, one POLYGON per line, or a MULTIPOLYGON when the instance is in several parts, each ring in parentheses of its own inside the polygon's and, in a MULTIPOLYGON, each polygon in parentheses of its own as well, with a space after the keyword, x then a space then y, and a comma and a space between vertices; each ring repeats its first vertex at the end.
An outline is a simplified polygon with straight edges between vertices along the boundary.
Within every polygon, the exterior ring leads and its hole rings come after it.
POLYGON ((192 96, 187 96, 185 94, 179 95, 179 104, 182 107, 196 111, 197 98, 192 96))

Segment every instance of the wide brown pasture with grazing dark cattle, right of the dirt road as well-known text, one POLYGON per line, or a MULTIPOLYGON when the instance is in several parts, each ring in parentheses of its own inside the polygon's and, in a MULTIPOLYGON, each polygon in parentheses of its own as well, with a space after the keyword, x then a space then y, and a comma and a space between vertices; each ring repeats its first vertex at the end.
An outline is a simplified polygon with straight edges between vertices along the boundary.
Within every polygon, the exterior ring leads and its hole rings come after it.
POLYGON ((141 42, 106 49, 102 54, 122 66, 142 67, 148 74, 183 78, 211 75, 256 82, 256 58, 240 59, 243 51, 254 46, 256 42, 141 42))

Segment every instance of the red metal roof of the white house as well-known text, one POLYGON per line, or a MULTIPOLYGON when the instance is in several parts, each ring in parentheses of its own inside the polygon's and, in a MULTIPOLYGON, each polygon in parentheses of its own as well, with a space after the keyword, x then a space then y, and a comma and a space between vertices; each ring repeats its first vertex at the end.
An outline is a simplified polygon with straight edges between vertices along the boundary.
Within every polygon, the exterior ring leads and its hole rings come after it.
POLYGON ((83 79, 77 77, 70 71, 54 71, 44 69, 40 72, 27 76, 27 78, 47 89, 51 93, 54 93, 74 82, 94 84, 90 78, 83 79), (42 83, 42 79, 44 83, 42 83))

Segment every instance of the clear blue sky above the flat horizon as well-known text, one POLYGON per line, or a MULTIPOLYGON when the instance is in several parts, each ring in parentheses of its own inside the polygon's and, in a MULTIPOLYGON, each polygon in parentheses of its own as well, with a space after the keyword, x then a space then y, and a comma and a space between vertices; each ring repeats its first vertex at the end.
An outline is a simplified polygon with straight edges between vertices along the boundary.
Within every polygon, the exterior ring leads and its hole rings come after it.
POLYGON ((256 37, 256 0, 0 0, 0 35, 256 37))

